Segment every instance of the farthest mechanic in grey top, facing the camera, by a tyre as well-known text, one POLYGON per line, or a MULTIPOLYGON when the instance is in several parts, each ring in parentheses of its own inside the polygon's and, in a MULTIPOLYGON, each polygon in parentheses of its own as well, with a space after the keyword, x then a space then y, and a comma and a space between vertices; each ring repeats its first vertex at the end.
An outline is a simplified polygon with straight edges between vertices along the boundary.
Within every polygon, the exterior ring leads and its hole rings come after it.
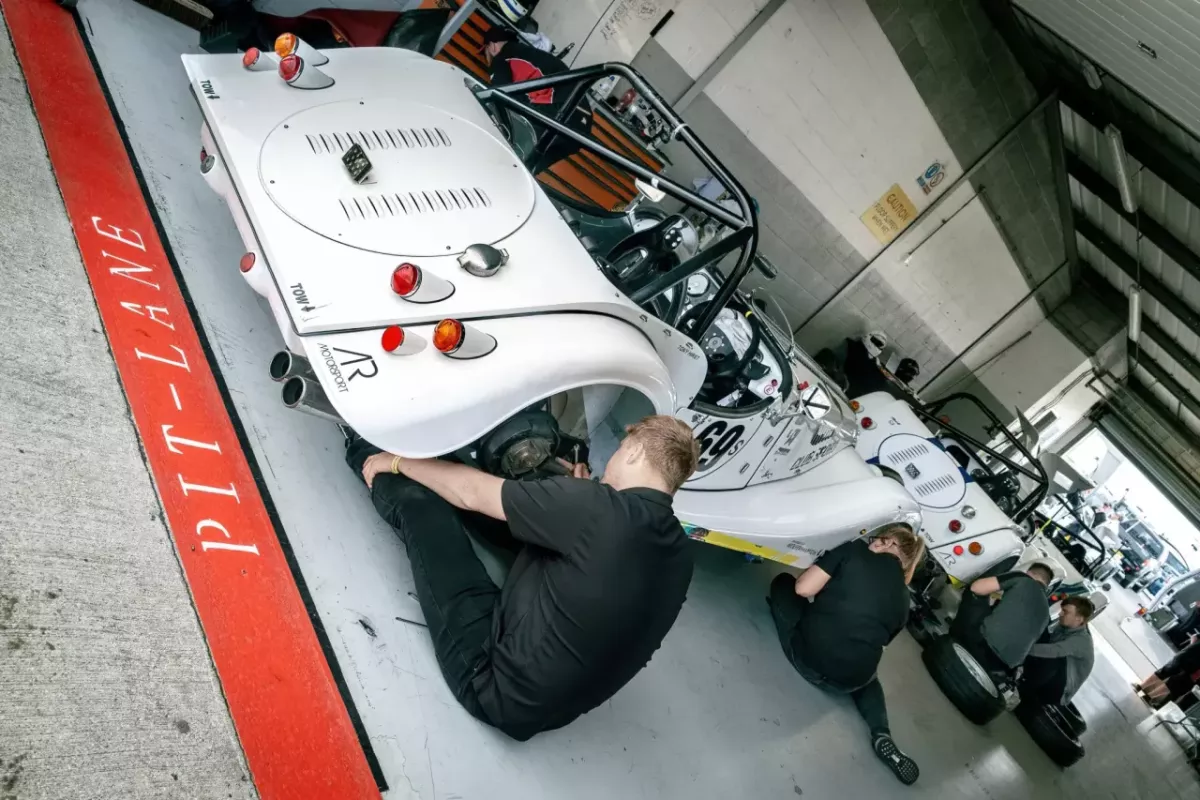
POLYGON ((1051 625, 1030 648, 1021 673, 1021 700, 1044 705, 1066 705, 1092 674, 1096 652, 1087 621, 1096 606, 1087 597, 1067 597, 1058 607, 1058 622, 1051 625))

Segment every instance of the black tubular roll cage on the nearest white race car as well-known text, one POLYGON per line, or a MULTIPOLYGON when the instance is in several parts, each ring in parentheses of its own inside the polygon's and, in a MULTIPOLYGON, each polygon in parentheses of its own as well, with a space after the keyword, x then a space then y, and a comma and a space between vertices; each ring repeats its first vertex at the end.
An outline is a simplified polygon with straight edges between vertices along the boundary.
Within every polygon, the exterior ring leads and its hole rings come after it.
POLYGON ((598 157, 620 167, 647 184, 661 190, 684 205, 714 217, 731 229, 726 236, 700 251, 686 261, 665 272, 648 275, 634 282, 632 285, 622 287, 634 302, 644 305, 671 289, 671 287, 686 281, 700 270, 712 267, 712 271, 715 273, 716 265, 731 253, 737 252, 737 261, 730 271, 728 278, 721 283, 720 290, 713 297, 704 314, 696 320, 695 330, 708 330, 716 320, 716 315, 721 309, 733 300, 738 285, 754 265, 755 253, 758 247, 758 219, 754 204, 750 201, 750 197, 742 185, 730 174, 716 156, 704 146, 696 134, 691 132, 688 124, 679 119, 679 115, 659 96, 646 78, 626 64, 598 64, 580 70, 569 70, 545 78, 498 86, 484 86, 473 78, 468 78, 468 85, 474 90, 475 97, 485 106, 493 109, 499 107, 509 114, 523 116, 544 128, 530 155, 532 160, 536 160, 540 154, 545 152, 558 137, 565 137, 595 154, 598 157), (588 88, 596 80, 611 76, 618 76, 628 80, 641 95, 642 100, 649 103, 662 116, 664 122, 666 122, 672 132, 671 138, 683 142, 704 168, 709 170, 713 178, 725 186, 730 196, 737 201, 739 213, 733 213, 677 181, 652 172, 644 164, 614 151, 595 139, 572 131, 565 125, 570 113, 578 107, 588 88), (563 103, 553 116, 523 102, 523 95, 551 86, 562 88, 568 92, 566 102, 563 103))

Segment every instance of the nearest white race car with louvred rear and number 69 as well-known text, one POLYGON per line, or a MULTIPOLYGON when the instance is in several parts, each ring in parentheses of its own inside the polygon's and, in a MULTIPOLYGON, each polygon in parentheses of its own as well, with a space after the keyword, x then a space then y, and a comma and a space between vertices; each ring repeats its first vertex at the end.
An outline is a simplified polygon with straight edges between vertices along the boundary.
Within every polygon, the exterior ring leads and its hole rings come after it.
POLYGON ((882 525, 919 527, 918 503, 854 451, 848 401, 737 291, 755 258, 752 205, 634 70, 487 88, 403 49, 280 49, 182 60, 204 115, 200 170, 287 348, 271 365, 287 405, 384 450, 506 477, 589 447, 602 463, 626 423, 672 414, 702 447, 674 506, 698 539, 803 566, 882 525), (655 106, 739 212, 522 102, 547 89, 578 100, 606 74, 655 106), (727 235, 696 252, 677 215, 635 225, 612 259, 589 252, 577 231, 595 210, 551 200, 499 109, 727 235), (716 264, 734 255, 725 279, 716 264))

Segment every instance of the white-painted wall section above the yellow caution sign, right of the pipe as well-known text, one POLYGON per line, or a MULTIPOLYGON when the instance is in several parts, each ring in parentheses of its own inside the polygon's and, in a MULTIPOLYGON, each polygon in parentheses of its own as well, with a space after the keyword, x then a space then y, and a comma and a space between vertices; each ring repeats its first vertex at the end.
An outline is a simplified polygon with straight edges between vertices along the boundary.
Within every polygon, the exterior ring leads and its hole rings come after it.
POLYGON ((949 144, 865 0, 792 0, 707 94, 865 257, 882 245, 859 218, 934 162, 961 174, 949 144))

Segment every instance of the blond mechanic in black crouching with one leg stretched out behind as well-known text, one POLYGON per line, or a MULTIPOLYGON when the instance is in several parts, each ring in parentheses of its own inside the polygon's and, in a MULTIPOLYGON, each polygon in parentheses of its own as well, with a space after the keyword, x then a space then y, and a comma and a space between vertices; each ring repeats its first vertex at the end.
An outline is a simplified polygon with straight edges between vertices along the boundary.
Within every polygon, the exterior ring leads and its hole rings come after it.
POLYGON ((876 670, 883 648, 908 619, 908 582, 924 554, 925 543, 898 525, 870 543, 856 539, 839 545, 799 578, 780 575, 767 599, 796 672, 814 686, 851 696, 875 754, 907 784, 920 771, 892 740, 876 670))

